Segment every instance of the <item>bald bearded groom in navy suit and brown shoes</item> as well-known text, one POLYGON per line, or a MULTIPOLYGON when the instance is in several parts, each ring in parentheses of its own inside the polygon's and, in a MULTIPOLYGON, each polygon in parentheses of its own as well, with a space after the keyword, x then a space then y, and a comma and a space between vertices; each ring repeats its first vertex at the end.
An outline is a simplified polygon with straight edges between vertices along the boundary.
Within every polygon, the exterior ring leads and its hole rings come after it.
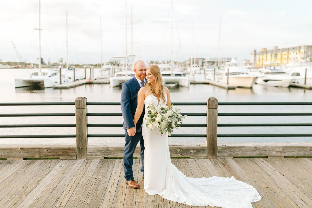
POLYGON ((133 165, 133 153, 140 141, 141 146, 141 161, 144 178, 143 169, 143 157, 144 157, 144 141, 142 137, 142 121, 144 116, 144 109, 142 115, 136 125, 134 126, 134 114, 138 106, 138 92, 141 87, 146 84, 145 73, 147 65, 142 60, 138 60, 134 63, 135 76, 131 80, 124 82, 121 86, 121 112, 124 117, 124 132, 125 140, 124 144, 124 178, 126 183, 131 188, 139 188, 139 184, 134 180, 132 165, 133 165))

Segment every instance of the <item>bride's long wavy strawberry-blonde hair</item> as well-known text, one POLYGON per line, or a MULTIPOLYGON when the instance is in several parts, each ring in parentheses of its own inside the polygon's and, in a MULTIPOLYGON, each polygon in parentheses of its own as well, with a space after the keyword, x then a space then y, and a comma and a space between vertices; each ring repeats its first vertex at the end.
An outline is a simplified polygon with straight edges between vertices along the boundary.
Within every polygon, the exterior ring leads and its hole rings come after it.
POLYGON ((163 102, 165 102, 165 95, 163 93, 163 78, 161 77, 160 69, 158 65, 151 65, 150 67, 147 68, 147 70, 150 70, 151 73, 156 76, 155 80, 155 86, 150 84, 149 82, 146 83, 147 89, 149 89, 149 92, 151 94, 154 94, 157 98, 163 99, 163 102))

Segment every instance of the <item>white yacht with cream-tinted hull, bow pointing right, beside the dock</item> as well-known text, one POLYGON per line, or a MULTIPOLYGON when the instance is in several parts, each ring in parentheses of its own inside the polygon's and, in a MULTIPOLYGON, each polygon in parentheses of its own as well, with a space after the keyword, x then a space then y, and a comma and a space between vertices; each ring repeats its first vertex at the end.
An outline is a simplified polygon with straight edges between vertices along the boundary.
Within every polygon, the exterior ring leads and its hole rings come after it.
POLYGON ((241 64, 238 63, 237 60, 234 58, 232 58, 230 62, 226 63, 223 75, 219 76, 218 80, 216 81, 227 84, 227 70, 229 73, 229 85, 234 85, 236 87, 252 88, 252 85, 254 85, 256 82, 257 77, 254 75, 250 75, 246 68, 241 66, 241 64))

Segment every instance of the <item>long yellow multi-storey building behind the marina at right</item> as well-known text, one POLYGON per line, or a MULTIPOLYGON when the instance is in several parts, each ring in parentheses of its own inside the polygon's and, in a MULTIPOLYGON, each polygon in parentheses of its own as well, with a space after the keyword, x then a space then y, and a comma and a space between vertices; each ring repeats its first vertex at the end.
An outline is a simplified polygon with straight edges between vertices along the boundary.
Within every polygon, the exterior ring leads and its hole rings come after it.
POLYGON ((256 53, 256 67, 285 65, 296 61, 312 61, 312 46, 275 46, 272 50, 262 48, 256 53))

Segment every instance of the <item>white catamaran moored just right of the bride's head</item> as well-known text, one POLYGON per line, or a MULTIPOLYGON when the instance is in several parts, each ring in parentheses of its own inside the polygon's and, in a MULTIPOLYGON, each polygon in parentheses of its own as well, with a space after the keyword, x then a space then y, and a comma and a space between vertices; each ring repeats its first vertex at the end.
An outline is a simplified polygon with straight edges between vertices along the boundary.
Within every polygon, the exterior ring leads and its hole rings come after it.
POLYGON ((177 84, 181 87, 189 87, 190 81, 188 80, 187 72, 183 71, 162 71, 163 84, 177 84))

